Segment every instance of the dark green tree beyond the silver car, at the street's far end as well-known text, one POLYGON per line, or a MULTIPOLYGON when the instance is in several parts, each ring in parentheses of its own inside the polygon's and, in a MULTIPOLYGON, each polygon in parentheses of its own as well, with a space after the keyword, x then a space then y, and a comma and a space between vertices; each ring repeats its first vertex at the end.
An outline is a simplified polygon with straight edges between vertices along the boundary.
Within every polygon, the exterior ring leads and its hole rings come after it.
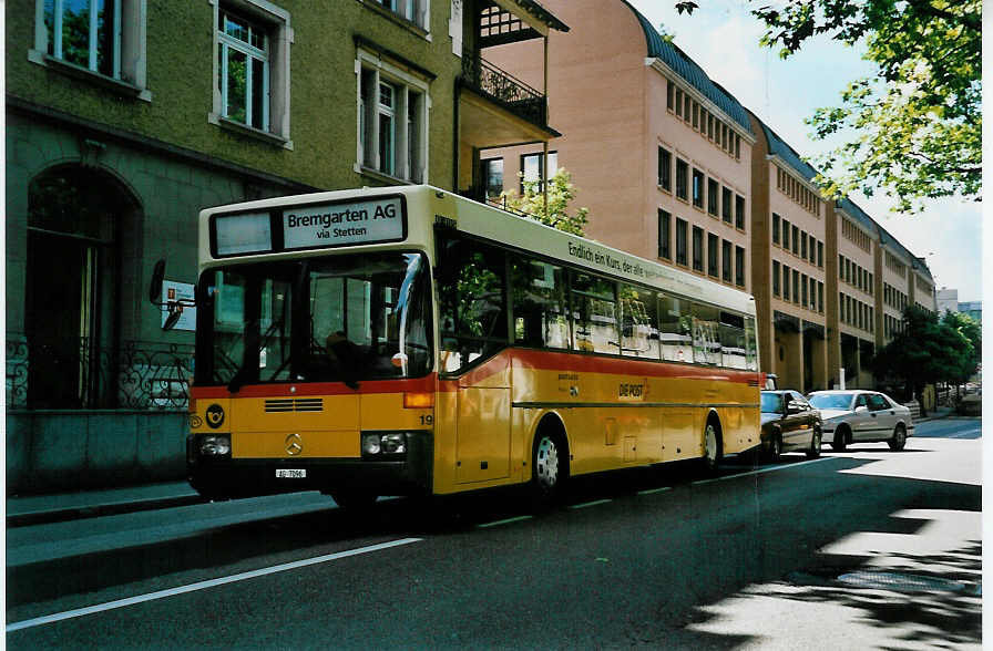
POLYGON ((970 363, 971 375, 975 359, 973 344, 960 330, 934 312, 908 306, 903 329, 877 351, 872 373, 880 381, 900 382, 908 393, 920 396, 925 384, 955 382, 970 363))

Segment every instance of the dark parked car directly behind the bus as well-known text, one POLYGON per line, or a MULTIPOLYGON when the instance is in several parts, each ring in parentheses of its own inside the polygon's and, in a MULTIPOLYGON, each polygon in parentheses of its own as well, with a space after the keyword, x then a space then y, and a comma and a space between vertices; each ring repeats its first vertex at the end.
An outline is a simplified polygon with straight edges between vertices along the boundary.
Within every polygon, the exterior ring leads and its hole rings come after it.
POLYGON ((799 392, 784 389, 762 391, 761 451, 776 459, 780 453, 802 450, 807 456, 820 456, 820 412, 799 392))

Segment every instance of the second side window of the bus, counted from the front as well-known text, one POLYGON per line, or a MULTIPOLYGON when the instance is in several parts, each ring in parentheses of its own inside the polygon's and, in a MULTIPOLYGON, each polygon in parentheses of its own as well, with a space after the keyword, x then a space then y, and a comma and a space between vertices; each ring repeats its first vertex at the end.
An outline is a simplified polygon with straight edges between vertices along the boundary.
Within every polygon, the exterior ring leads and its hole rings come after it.
POLYGON ((511 262, 514 343, 569 348, 565 271, 562 267, 515 257, 511 262))

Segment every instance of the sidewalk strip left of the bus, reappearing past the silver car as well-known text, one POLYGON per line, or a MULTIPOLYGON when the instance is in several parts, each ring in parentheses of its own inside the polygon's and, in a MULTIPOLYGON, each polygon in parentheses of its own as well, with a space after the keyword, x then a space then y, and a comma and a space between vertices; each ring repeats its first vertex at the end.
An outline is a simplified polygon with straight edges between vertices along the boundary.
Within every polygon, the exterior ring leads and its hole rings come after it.
MULTIPOLYGON (((941 406, 932 410, 928 417, 918 418, 914 423, 925 423, 952 415, 952 407, 941 406)), ((186 506, 202 502, 204 499, 186 482, 53 495, 8 497, 7 526, 22 527, 120 513, 186 506)))

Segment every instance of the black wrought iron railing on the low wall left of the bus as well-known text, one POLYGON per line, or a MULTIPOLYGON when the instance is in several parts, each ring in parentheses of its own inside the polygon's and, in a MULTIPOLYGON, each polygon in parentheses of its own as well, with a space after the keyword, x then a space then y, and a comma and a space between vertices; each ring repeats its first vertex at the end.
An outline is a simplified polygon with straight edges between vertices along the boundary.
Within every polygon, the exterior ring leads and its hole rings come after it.
POLYGON ((9 333, 7 407, 185 410, 193 350, 149 341, 101 347, 89 338, 38 343, 9 333))

